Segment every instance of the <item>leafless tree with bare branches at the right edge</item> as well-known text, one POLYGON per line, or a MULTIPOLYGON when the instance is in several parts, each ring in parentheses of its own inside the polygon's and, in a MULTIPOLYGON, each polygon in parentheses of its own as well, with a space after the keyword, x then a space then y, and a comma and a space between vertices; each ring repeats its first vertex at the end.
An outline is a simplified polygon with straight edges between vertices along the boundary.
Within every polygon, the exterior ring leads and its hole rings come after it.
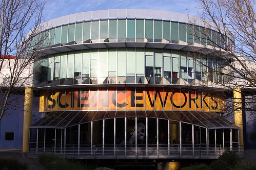
MULTIPOLYGON (((242 88, 242 100, 251 120, 256 117, 256 15, 253 0, 200 0, 200 22, 207 29, 192 28, 193 36, 205 44, 204 50, 196 51, 211 55, 222 62, 219 79, 230 89, 227 111, 233 113, 232 90, 242 88), (200 35, 200 36, 199 36, 200 35), (228 38, 230 37, 230 39, 228 38), (254 104, 252 104, 254 102, 254 104), (229 105, 230 104, 230 105, 229 105)), ((195 22, 195 18, 190 18, 195 22)), ((204 64, 204 63, 201 63, 204 64)), ((206 65, 207 66, 207 65, 206 65)), ((214 69, 214 68, 209 68, 214 69)), ((228 93, 226 93, 228 94, 228 93)))

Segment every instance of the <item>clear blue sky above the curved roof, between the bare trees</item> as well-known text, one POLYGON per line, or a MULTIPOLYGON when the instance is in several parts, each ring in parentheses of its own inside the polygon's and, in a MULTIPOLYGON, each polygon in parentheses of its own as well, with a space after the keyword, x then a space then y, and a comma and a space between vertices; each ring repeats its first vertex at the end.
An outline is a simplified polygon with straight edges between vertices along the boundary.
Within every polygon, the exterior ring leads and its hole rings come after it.
POLYGON ((196 15, 198 0, 48 0, 45 20, 78 12, 106 9, 155 9, 196 15))

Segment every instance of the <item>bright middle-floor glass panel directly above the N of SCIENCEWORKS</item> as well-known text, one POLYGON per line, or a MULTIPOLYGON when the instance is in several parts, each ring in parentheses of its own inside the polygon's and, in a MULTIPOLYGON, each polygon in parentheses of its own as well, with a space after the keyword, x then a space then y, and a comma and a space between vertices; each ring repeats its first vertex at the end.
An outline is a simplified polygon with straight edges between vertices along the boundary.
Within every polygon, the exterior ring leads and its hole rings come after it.
POLYGON ((99 61, 99 64, 100 64, 100 71, 99 71, 99 76, 100 77, 107 77, 108 76, 108 52, 107 52, 107 49, 100 49, 100 61, 99 61))

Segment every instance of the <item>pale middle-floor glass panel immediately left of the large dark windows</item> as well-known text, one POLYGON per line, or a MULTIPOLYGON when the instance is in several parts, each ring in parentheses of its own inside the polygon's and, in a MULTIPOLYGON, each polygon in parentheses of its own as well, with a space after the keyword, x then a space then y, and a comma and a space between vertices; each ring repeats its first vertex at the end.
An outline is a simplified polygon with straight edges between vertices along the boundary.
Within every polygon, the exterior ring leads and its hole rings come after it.
POLYGON ((136 48, 136 75, 144 77, 144 48, 136 48))

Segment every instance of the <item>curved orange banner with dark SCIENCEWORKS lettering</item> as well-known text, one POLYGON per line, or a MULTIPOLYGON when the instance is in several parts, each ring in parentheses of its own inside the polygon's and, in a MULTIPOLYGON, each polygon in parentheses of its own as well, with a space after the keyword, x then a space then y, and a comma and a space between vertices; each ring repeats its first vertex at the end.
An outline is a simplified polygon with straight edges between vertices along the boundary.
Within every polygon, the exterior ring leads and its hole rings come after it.
POLYGON ((174 88, 41 91, 40 111, 190 110, 224 111, 221 94, 174 88))

